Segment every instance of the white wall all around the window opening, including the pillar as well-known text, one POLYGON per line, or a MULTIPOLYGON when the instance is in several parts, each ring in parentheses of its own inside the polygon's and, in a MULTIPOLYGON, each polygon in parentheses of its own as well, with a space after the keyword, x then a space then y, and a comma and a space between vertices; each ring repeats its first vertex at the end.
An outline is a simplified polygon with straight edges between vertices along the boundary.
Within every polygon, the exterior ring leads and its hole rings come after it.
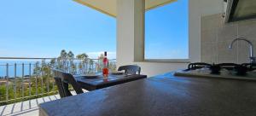
MULTIPOLYGON (((143 11, 138 12, 143 6, 137 5, 137 7, 134 7, 135 1, 142 2, 142 0, 118 1, 117 65, 137 64, 142 67, 142 73, 147 74, 148 77, 186 68, 188 63, 146 62, 137 60, 142 58, 144 54, 144 46, 140 44, 143 42, 144 38, 141 35, 136 36, 134 31, 136 30, 135 28, 139 26, 144 27, 144 25, 135 23, 134 21, 141 22, 144 17, 137 17, 138 14, 142 14, 143 11), (137 43, 139 43, 139 45, 137 43)), ((221 13, 223 11, 222 1, 223 0, 189 0, 189 59, 191 62, 201 61, 201 16, 221 13)), ((139 30, 144 34, 142 28, 139 28, 139 30)))

